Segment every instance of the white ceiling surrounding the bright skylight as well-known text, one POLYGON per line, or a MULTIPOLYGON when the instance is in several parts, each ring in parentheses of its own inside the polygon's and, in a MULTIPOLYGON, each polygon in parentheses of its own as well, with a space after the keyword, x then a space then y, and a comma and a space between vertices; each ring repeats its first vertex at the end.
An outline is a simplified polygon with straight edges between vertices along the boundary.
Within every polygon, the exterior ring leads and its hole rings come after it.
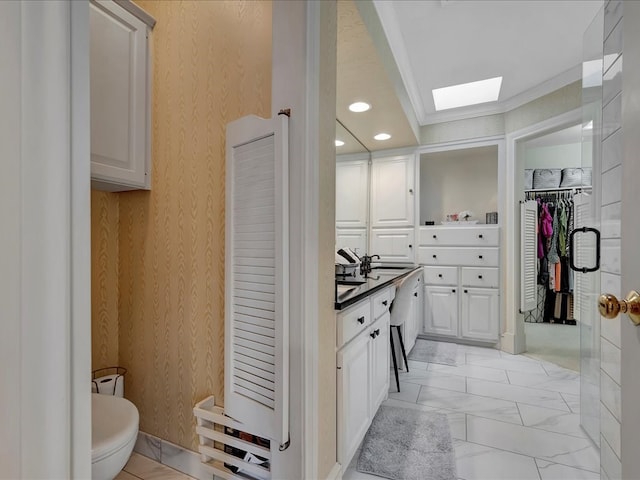
MULTIPOLYGON (((602 1, 373 4, 413 113, 420 125, 428 125, 511 110, 579 80, 582 35, 602 1), (497 76, 503 77, 498 102, 435 111, 432 89, 497 76)), ((385 66, 389 71, 388 62, 385 66)))

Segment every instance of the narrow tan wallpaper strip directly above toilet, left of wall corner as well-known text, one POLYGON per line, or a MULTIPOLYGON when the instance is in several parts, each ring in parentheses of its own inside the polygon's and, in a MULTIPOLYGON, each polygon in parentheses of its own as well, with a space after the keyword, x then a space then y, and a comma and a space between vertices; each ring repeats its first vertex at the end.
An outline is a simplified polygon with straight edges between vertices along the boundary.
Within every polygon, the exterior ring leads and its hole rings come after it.
POLYGON ((91 369, 118 365, 117 193, 91 192, 91 369))

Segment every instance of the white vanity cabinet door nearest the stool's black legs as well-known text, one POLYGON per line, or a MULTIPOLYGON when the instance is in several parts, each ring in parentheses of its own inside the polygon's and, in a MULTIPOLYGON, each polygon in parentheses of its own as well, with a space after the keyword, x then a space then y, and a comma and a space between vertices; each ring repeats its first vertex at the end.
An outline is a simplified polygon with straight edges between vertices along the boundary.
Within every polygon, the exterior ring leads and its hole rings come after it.
POLYGON ((371 415, 374 415, 389 391, 389 320, 387 311, 369 330, 371 338, 371 415))

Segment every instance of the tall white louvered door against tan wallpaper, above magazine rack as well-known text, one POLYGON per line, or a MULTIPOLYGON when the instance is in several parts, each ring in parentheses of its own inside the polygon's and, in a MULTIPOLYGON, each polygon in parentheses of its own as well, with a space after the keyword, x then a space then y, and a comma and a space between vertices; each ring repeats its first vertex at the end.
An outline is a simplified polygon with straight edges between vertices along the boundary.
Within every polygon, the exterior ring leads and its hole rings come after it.
POLYGON ((225 413, 289 437, 288 118, 227 126, 225 413))

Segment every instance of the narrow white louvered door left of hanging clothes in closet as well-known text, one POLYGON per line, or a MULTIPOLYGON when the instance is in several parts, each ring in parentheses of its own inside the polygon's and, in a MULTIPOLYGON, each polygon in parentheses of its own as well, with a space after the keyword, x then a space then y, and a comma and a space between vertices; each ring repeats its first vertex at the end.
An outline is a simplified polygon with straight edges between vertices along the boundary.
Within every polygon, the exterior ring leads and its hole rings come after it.
POLYGON ((520 311, 529 312, 538 305, 538 202, 520 204, 520 311))

